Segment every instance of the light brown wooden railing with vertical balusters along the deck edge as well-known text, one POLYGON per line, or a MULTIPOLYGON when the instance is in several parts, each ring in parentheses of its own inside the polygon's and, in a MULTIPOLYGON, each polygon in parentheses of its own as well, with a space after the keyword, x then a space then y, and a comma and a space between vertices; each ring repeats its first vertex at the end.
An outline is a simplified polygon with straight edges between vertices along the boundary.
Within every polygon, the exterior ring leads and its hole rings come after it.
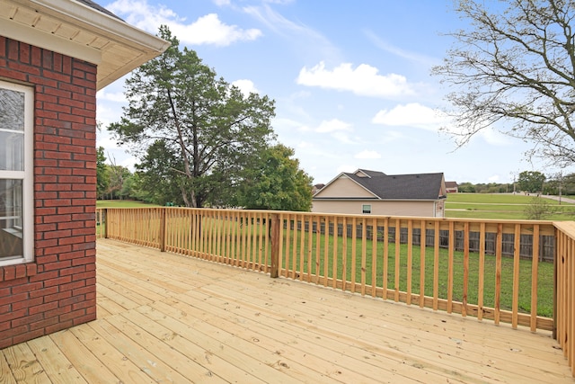
POLYGON ((575 222, 183 208, 96 215, 98 237, 553 331, 575 376, 575 222), (542 262, 550 252, 553 263, 542 262))

